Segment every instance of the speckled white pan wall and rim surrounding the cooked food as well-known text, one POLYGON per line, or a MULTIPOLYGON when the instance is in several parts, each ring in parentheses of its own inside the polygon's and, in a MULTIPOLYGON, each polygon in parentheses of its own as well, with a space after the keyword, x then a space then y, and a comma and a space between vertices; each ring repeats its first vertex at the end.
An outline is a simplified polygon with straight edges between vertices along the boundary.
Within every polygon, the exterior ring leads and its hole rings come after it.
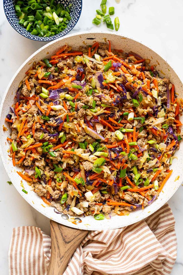
MULTIPOLYGON (((2 131, 3 125, 9 128, 4 119, 7 113, 9 112, 9 106, 13 104, 13 98, 15 92, 17 91, 18 85, 20 81, 24 78, 25 72, 31 67, 32 62, 37 62, 41 59, 50 57, 56 51, 58 51, 59 48, 65 45, 65 43, 71 45, 73 49, 78 49, 80 45, 91 45, 95 40, 98 42, 106 42, 106 40, 111 40, 112 48, 122 49, 125 52, 133 51, 135 53, 140 54, 143 58, 151 59, 151 64, 157 64, 156 69, 158 71, 162 70, 161 72, 163 72, 166 75, 166 77, 170 78, 171 83, 175 85, 176 92, 179 93, 179 97, 183 97, 182 83, 176 75, 176 73, 174 72, 174 70, 164 59, 162 59, 162 57, 160 57, 157 53, 152 51, 147 46, 144 46, 143 44, 136 42, 130 38, 122 37, 121 35, 114 34, 112 32, 81 32, 78 34, 71 34, 67 37, 54 40, 53 42, 47 44, 46 46, 43 46, 34 54, 32 54, 21 65, 21 67, 17 70, 12 80, 10 81, 0 107, 0 154, 6 172, 9 175, 9 178, 12 181, 15 188, 18 190, 21 196, 23 196, 24 199, 40 213, 66 226, 88 230, 103 230, 120 228, 138 222, 141 219, 148 217, 153 212, 158 210, 170 199, 170 197, 175 193, 175 191, 182 183, 183 142, 180 145, 179 151, 176 152, 176 156, 178 157, 178 159, 174 159, 173 164, 171 166, 171 169, 173 169, 173 173, 168 182, 166 183, 166 185, 164 186, 163 191, 160 193, 160 196, 153 204, 151 204, 148 207, 145 207, 144 210, 133 211, 132 213, 130 213, 129 216, 114 216, 110 220, 104 219, 103 221, 96 221, 92 216, 89 216, 81 218, 82 222, 77 225, 74 225, 71 222, 64 220, 61 217, 61 215, 54 213, 52 207, 47 207, 47 205, 44 204, 42 199, 39 196, 37 196, 37 194, 29 190, 29 186, 24 180, 23 185, 24 188, 28 191, 28 194, 24 194, 22 192, 21 178, 16 173, 17 167, 13 167, 12 160, 9 158, 7 153, 9 144, 6 141, 6 138, 10 136, 10 131, 2 131), (177 176, 180 176, 179 180, 174 181, 177 176)), ((181 119, 181 121, 183 121, 183 119, 181 119)), ((9 195, 11 197, 11 193, 9 195)))

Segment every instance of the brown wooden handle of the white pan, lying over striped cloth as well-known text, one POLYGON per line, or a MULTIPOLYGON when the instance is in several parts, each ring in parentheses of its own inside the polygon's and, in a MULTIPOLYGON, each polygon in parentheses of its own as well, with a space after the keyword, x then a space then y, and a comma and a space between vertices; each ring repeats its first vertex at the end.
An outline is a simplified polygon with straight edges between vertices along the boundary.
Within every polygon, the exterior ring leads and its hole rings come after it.
POLYGON ((77 246, 88 230, 80 230, 50 221, 51 259, 47 275, 62 275, 77 246))

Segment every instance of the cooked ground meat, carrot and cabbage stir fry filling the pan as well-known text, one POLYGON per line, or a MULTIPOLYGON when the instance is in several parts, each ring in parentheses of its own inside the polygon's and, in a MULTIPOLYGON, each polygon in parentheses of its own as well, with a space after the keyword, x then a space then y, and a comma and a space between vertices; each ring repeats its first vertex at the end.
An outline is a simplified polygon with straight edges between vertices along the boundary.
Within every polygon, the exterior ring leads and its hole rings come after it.
POLYGON ((158 198, 181 141, 182 99, 150 59, 64 45, 26 72, 6 121, 21 178, 59 212, 126 215, 158 198))

